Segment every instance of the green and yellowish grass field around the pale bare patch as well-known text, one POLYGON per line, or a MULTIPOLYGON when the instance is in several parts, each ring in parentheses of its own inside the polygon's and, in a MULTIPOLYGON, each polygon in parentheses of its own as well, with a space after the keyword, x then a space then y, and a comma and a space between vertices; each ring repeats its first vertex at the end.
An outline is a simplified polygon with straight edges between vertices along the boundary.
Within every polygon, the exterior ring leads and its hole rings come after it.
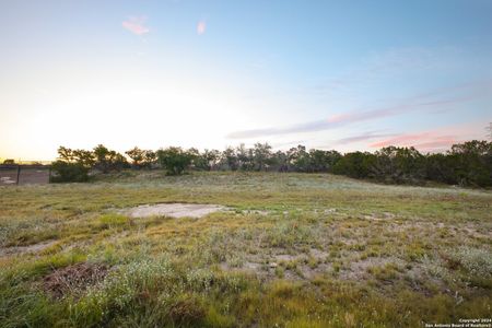
POLYGON ((422 327, 490 317, 492 192, 327 174, 0 187, 1 327, 422 327), (129 218, 160 202, 227 208, 129 218))

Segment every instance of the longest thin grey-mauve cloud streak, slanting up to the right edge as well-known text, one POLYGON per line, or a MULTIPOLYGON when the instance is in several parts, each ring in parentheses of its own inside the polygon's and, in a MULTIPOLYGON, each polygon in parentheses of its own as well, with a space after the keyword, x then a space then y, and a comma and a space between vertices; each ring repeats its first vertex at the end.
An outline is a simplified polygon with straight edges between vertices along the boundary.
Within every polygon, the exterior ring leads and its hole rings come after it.
MULTIPOLYGON (((490 95, 491 93, 492 93, 492 81, 467 83, 462 85, 455 85, 452 87, 443 87, 440 90, 420 94, 403 99, 399 104, 388 107, 374 108, 361 112, 351 112, 347 114, 337 114, 328 117, 327 119, 314 120, 280 128, 235 131, 227 134, 226 138, 249 139, 249 138, 289 134, 289 133, 316 132, 329 130, 359 121, 374 120, 378 118, 396 116, 405 113, 410 113, 413 110, 419 110, 422 108, 429 108, 432 106, 459 104, 475 99, 477 97, 481 97, 483 95, 490 95), (458 96, 456 96, 456 94, 458 94, 458 96)), ((449 107, 441 107, 440 112, 445 112, 448 108, 449 107)))

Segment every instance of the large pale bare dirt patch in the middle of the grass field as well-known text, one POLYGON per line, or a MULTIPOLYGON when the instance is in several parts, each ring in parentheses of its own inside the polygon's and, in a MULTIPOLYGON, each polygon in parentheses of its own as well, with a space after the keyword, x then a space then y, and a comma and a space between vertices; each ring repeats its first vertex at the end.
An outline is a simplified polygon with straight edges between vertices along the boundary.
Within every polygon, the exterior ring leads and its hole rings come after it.
POLYGON ((172 218, 202 218, 225 208, 216 204, 200 203, 157 203, 145 204, 126 211, 131 218, 172 216, 172 218))

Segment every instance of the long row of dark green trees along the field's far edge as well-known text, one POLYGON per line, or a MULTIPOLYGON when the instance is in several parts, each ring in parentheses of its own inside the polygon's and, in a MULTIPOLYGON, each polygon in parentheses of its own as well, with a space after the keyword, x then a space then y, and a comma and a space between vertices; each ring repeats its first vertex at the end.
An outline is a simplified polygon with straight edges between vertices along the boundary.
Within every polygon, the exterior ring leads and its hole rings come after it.
POLYGON ((125 154, 99 144, 93 150, 60 147, 52 164, 54 181, 85 181, 90 172, 165 169, 169 175, 187 171, 270 171, 332 173, 384 183, 419 184, 433 180, 460 186, 492 186, 492 142, 472 140, 454 144, 445 153, 422 154, 417 149, 386 147, 374 153, 307 150, 304 145, 272 151, 268 143, 241 144, 219 150, 179 147, 125 154))

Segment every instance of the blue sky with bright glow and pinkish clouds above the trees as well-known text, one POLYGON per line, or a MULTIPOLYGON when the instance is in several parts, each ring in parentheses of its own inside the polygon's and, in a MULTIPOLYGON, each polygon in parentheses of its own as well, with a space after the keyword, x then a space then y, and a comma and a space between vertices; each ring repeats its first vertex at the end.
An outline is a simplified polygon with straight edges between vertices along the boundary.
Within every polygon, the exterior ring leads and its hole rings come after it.
POLYGON ((437 152, 492 121, 492 1, 0 0, 0 157, 437 152))

